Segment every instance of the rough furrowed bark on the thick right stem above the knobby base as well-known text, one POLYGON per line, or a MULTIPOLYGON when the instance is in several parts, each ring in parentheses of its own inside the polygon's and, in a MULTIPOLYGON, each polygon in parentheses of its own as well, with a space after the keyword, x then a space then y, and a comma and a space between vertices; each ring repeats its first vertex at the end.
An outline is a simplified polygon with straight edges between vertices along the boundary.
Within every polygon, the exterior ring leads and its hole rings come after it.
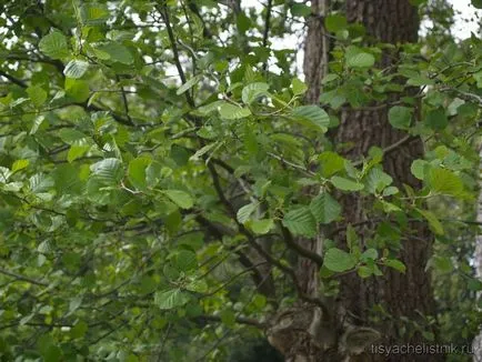
MULTIPOLYGON (((347 1, 347 17, 349 22, 361 22, 369 37, 375 41, 400 43, 415 42, 419 19, 416 8, 409 0, 349 0, 347 1)), ((388 67, 393 58, 386 56, 381 67, 388 67)), ((388 122, 388 108, 371 110, 351 110, 342 112, 341 123, 334 137, 335 144, 349 143, 353 147, 347 152, 350 159, 359 160, 365 155, 373 145, 386 148, 406 135, 396 131, 388 122)), ((409 184, 418 189, 419 181, 410 172, 414 159, 423 157, 423 144, 420 140, 405 143, 396 152, 385 155, 383 167, 392 175, 394 182, 401 187, 409 184)), ((347 195, 342 198, 344 220, 347 223, 359 223, 368 219, 368 200, 347 195)), ((430 275, 425 265, 431 252, 432 237, 424 223, 412 223, 412 234, 406 234, 403 241, 400 259, 406 267, 406 273, 386 269, 383 276, 360 279, 349 274, 341 280, 339 306, 353 316, 353 322, 361 325, 371 325, 382 333, 383 344, 421 343, 420 333, 406 335, 401 333, 403 322, 400 318, 425 324, 423 315, 433 315, 433 300, 430 275), (371 309, 382 305, 391 318, 373 322, 371 309)), ((370 228, 361 231, 368 237, 370 228)), ((339 240, 340 247, 345 244, 339 240)), ((364 240, 361 240, 363 247, 364 240)), ((439 355, 405 355, 398 356, 396 361, 439 360, 439 355)), ((366 354, 363 361, 384 361, 385 358, 376 354, 366 354)))

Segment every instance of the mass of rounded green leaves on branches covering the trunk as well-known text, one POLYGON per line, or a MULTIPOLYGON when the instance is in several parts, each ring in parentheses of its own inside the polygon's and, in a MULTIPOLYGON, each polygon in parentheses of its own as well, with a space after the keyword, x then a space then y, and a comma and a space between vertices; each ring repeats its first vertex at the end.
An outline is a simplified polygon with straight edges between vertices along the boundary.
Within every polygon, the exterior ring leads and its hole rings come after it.
MULTIPOLYGON (((6 9, 3 359, 138 361, 167 353, 169 361, 194 361, 198 348, 222 360, 220 342, 234 332, 260 335, 252 326, 297 298, 285 282, 290 238, 323 231, 320 276, 335 293, 340 273, 403 273, 398 252, 410 221, 426 220, 446 249, 464 228, 446 228, 440 205, 466 208, 476 194, 479 39, 440 50, 368 47, 361 26, 329 16, 337 46, 325 91, 320 105, 305 105, 292 51, 263 44, 255 12, 195 3, 52 0, 6 9), (400 54, 390 70, 375 66, 382 50, 400 54), (263 71, 269 60, 280 74, 263 71), (398 93, 412 95, 392 102, 398 93), (406 133, 402 142, 426 141, 425 159, 411 167, 421 190, 383 171, 398 144, 349 160, 350 145, 329 141, 344 107, 373 101, 389 108, 390 123, 406 133), (366 215, 376 221, 363 247, 359 225, 343 222, 340 193, 366 200, 366 215), (330 240, 341 231, 343 249, 330 240), (271 258, 257 254, 259 241, 268 241, 271 258), (278 294, 250 278, 263 264, 275 267, 278 294)), ((274 8, 277 34, 290 32, 284 16, 309 17, 300 3, 274 8)), ((442 248, 431 265, 460 276, 458 290, 469 286, 473 296, 481 283, 468 253, 456 265, 452 255, 442 248)))

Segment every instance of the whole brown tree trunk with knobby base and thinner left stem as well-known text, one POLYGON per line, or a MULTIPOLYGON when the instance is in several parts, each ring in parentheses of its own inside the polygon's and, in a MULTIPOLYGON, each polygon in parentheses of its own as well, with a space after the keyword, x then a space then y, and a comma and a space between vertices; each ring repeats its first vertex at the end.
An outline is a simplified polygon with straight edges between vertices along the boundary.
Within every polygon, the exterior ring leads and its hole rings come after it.
MULTIPOLYGON (((328 11, 327 0, 312 1, 312 17, 305 42, 304 72, 308 84, 307 102, 318 103, 321 78, 328 68, 329 42, 324 34, 323 17, 328 11)), ((370 39, 400 43, 418 40, 418 9, 409 0, 347 0, 349 22, 361 22, 370 39)), ((393 58, 382 57, 381 67, 393 62, 393 58)), ((360 92, 363 90, 360 89, 360 92)), ((391 101, 396 99, 391 99, 391 101)), ((373 104, 376 105, 376 104, 373 104)), ((369 110, 344 109, 339 128, 331 134, 334 144, 349 143, 353 147, 344 154, 352 160, 366 155, 373 145, 385 148, 398 142, 406 133, 400 132, 388 122, 388 108, 375 107, 369 110)), ((419 181, 411 175, 410 167, 414 159, 423 157, 421 140, 406 142, 384 157, 384 170, 395 183, 419 188, 419 181)), ((366 220, 370 210, 366 200, 359 195, 343 195, 344 223, 360 223, 366 220)), ((433 315, 433 300, 429 273, 425 265, 431 253, 432 237, 428 225, 412 223, 406 241, 400 248, 400 260, 406 267, 402 274, 383 270, 383 276, 361 279, 354 273, 340 278, 340 294, 327 304, 327 310, 308 303, 300 303, 291 310, 281 311, 272 325, 270 342, 285 356, 288 362, 340 362, 340 361, 439 361, 441 355, 391 355, 376 354, 370 344, 374 341, 384 345, 421 343, 420 332, 403 333, 403 318, 425 323, 424 315, 433 315), (386 314, 371 314, 380 305, 386 314), (328 312, 328 313, 327 313, 328 312), (277 334, 278 333, 278 334, 277 334), (366 348, 368 346, 368 348, 366 348)), ((369 223, 358 229, 361 247, 373 232, 369 223)), ((298 241, 303 248, 319 254, 322 250, 321 235, 317 241, 298 241)), ((347 248, 345 235, 339 234, 340 248, 347 248)), ((298 276, 303 292, 319 296, 318 265, 300 258, 298 276)))

